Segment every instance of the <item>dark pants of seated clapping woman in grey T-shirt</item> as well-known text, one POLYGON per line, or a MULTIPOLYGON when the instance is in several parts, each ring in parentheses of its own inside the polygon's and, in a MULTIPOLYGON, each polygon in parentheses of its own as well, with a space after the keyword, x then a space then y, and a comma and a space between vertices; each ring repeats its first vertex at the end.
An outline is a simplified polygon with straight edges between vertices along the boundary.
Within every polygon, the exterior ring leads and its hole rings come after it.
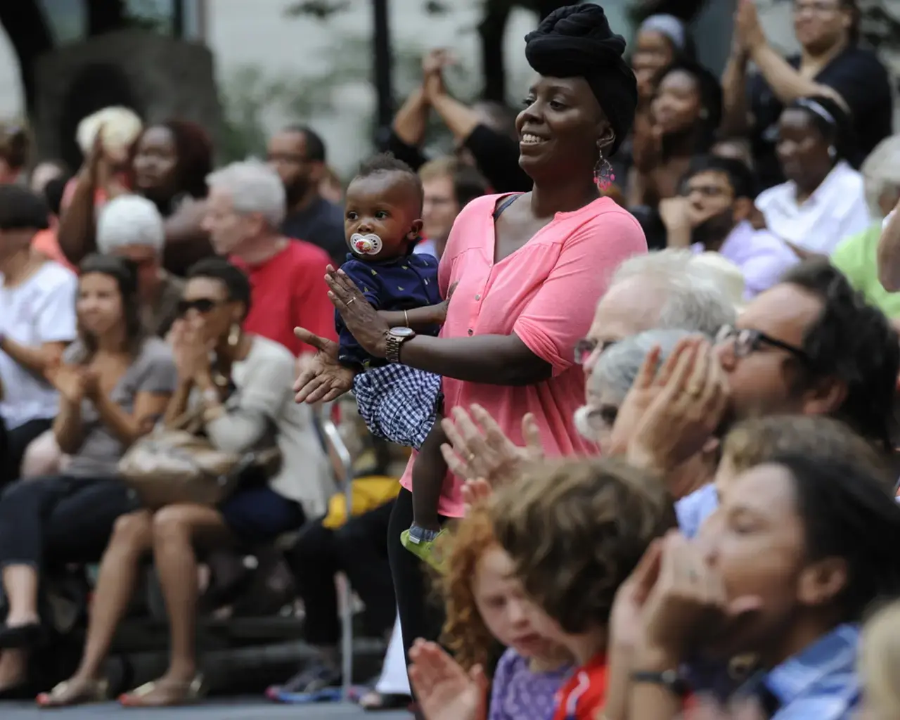
POLYGON ((95 563, 116 519, 133 509, 128 489, 114 478, 16 482, 0 495, 0 567, 95 563))

